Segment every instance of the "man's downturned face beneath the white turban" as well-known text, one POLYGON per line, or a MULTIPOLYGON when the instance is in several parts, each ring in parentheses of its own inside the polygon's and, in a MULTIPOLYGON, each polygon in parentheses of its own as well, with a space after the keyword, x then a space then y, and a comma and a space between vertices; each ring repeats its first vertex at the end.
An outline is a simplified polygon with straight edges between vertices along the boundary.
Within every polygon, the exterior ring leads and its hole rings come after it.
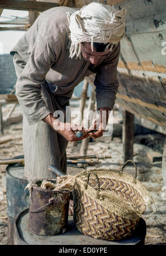
POLYGON ((100 58, 106 56, 110 52, 110 49, 107 49, 107 51, 104 52, 96 52, 94 48, 94 51, 92 52, 91 43, 81 43, 81 52, 87 62, 91 62, 95 65, 100 58))

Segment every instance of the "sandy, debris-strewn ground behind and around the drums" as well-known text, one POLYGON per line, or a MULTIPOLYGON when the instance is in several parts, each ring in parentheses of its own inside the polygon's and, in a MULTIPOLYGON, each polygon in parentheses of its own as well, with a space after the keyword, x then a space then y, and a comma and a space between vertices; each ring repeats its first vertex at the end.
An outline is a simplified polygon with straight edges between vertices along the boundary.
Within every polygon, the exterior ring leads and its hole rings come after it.
MULTIPOLYGON (((8 112, 8 108, 4 109, 4 114, 8 112)), ((15 113, 20 112, 17 107, 15 113)), ((14 115, 14 113, 13 113, 14 115)), ((120 114, 115 111, 115 122, 121 121, 120 114)), ((12 158, 15 155, 23 154, 22 145, 22 122, 17 124, 11 124, 4 128, 4 135, 12 135, 13 140, 7 143, 0 144, 0 159, 12 158)), ((147 158, 147 152, 150 150, 157 150, 163 152, 164 135, 154 134, 152 135, 137 135, 134 139, 134 158, 138 167, 138 179, 144 184, 144 186, 151 192, 157 205, 157 212, 152 213, 154 207, 147 208, 146 213, 143 214, 143 219, 147 224, 147 235, 145 244, 166 244, 165 236, 165 224, 166 224, 166 204, 165 200, 161 198, 161 188, 163 187, 163 176, 161 169, 161 162, 151 164, 147 158), (143 142, 143 144, 141 144, 143 142)), ((81 147, 81 143, 78 143, 76 147, 73 147, 73 143, 70 142, 67 148, 67 154, 78 154, 81 147)), ((111 168, 120 169, 123 164, 122 153, 122 138, 114 137, 101 137, 93 142, 89 143, 87 151, 88 155, 111 155, 111 159, 101 160, 101 164, 96 164, 92 168, 111 168)), ((3 189, 2 179, 5 177, 7 165, 0 165, 0 192, 3 189)), ((71 170, 71 168, 70 168, 71 170)), ((79 172, 79 168, 73 168, 70 174, 76 174, 79 172)), ((134 174, 133 167, 127 167, 126 172, 134 174)), ((69 172, 68 172, 69 173, 69 172)), ((7 244, 7 202, 6 192, 0 194, 0 244, 7 244)))

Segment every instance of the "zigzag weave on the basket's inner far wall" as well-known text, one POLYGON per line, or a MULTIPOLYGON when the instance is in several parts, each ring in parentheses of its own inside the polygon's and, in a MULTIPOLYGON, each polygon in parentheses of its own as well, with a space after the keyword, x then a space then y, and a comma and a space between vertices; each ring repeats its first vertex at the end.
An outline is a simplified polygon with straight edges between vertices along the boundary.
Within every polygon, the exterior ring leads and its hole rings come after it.
MULTIPOLYGON (((97 190, 96 179, 90 178, 89 185, 97 190)), ((136 205, 138 207, 138 210, 140 210, 141 212, 144 210, 144 206, 140 203, 142 202, 141 194, 139 194, 136 189, 133 189, 133 187, 126 182, 100 177, 100 190, 115 190, 115 192, 123 199, 126 199, 136 205)))

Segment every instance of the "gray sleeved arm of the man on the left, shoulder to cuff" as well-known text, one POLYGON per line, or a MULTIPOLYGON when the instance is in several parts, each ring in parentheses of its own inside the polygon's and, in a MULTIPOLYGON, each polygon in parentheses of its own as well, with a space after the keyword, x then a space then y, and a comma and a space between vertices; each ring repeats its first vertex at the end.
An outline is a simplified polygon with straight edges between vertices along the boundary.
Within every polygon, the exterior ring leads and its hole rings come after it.
POLYGON ((18 77, 15 94, 29 124, 41 121, 51 113, 41 95, 41 84, 46 73, 56 60, 49 43, 40 35, 37 36, 29 60, 18 77))

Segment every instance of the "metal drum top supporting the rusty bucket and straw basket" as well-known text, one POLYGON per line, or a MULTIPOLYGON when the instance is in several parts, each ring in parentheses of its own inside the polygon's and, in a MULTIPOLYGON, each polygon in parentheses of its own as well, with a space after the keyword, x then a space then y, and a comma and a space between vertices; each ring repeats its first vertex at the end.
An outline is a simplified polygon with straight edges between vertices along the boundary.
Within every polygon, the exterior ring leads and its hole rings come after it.
POLYGON ((146 222, 142 218, 139 220, 138 227, 131 237, 118 241, 98 240, 80 233, 72 216, 69 216, 66 233, 50 237, 30 232, 28 222, 29 209, 26 209, 15 219, 15 245, 143 245, 146 237, 146 222))

